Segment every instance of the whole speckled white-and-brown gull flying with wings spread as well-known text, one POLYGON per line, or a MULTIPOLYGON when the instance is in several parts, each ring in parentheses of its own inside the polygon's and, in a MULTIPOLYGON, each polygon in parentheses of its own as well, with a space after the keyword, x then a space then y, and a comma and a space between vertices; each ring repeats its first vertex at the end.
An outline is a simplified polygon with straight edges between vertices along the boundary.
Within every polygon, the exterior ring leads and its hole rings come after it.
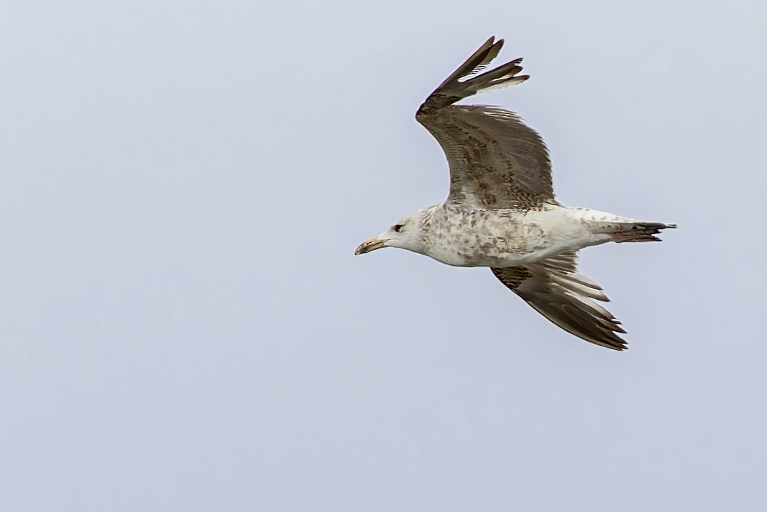
POLYGON ((456 105, 482 91, 529 78, 522 58, 481 72, 503 39, 489 38, 436 88, 416 120, 436 138, 450 168, 443 203, 397 220, 355 254, 399 247, 453 266, 488 266, 536 311, 578 338, 614 350, 625 333, 596 301, 607 296, 577 273, 578 251, 607 242, 653 242, 675 224, 640 222, 555 198, 551 160, 540 135, 499 107, 456 105))

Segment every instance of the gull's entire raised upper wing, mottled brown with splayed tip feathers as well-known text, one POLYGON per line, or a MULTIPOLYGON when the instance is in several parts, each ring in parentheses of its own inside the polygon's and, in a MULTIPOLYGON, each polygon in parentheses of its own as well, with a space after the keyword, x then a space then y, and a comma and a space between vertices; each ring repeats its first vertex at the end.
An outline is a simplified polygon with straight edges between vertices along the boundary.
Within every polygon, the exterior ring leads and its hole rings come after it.
POLYGON ((478 92, 529 78, 518 74, 522 58, 476 74, 498 55, 502 45, 503 39, 489 38, 426 98, 416 119, 447 157, 448 200, 486 209, 532 210, 545 203, 558 204, 548 149, 535 130, 502 108, 453 105, 478 92))

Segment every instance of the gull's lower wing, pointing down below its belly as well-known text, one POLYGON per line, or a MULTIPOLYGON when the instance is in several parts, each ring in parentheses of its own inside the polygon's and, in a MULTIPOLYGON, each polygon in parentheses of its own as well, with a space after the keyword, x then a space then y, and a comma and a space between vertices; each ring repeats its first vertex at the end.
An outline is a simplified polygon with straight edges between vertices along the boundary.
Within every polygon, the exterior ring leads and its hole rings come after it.
POLYGON ((609 301, 601 287, 576 273, 578 251, 558 254, 542 262, 504 269, 495 277, 556 325, 584 339, 614 350, 627 348, 616 332, 625 333, 611 312, 594 302, 609 301))

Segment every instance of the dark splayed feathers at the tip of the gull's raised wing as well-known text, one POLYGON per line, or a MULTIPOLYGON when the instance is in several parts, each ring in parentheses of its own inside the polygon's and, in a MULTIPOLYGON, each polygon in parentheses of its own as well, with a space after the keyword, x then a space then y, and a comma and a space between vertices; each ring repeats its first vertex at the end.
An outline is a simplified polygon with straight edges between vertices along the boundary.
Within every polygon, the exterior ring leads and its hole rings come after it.
POLYGON ((518 74, 522 71, 522 66, 519 65, 522 58, 515 58, 498 68, 477 74, 490 64, 490 61, 501 51, 502 46, 503 39, 495 41, 495 37, 491 37, 485 41, 485 44, 480 46, 474 55, 461 64, 456 71, 453 71, 453 74, 446 78, 442 84, 439 84, 439 87, 421 105, 421 110, 446 107, 478 92, 521 84, 530 78, 528 74, 518 74))

